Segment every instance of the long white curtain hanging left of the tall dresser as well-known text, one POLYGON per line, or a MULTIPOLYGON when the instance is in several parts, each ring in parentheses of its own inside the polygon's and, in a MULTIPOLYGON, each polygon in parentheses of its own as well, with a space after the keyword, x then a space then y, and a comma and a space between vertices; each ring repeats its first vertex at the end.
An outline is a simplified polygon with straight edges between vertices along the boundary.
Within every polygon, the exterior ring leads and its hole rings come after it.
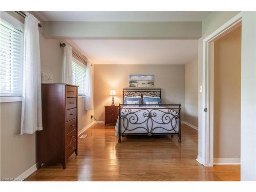
POLYGON ((21 135, 42 130, 39 21, 28 12, 26 15, 21 135))

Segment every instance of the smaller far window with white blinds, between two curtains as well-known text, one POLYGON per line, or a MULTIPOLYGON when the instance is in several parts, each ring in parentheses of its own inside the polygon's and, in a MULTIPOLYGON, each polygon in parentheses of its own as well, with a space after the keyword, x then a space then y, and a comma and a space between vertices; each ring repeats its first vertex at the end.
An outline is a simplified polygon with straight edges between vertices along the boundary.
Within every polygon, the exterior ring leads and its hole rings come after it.
POLYGON ((86 65, 78 60, 72 60, 73 83, 78 87, 78 95, 86 95, 86 65))

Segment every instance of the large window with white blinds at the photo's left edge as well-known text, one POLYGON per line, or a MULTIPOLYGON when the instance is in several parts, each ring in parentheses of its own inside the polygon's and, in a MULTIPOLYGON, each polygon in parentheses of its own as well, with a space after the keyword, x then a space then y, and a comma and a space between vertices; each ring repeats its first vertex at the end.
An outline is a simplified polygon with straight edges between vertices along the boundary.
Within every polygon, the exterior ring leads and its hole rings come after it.
POLYGON ((0 96, 22 96, 23 24, 7 13, 0 19, 0 96))

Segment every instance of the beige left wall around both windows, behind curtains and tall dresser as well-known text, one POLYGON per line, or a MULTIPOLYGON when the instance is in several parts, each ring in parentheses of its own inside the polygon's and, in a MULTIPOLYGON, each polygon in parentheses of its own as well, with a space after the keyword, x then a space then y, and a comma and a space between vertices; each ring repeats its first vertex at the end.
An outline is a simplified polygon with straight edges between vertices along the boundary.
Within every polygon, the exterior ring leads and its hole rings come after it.
MULTIPOLYGON (((63 50, 59 47, 61 40, 47 39, 41 34, 39 38, 41 71, 53 74, 54 83, 60 83, 63 57, 63 50)), ((20 135, 21 110, 22 102, 0 103, 1 178, 16 178, 37 162, 36 134, 20 135)), ((93 110, 85 111, 84 98, 79 98, 78 131, 92 122, 91 115, 93 110)))

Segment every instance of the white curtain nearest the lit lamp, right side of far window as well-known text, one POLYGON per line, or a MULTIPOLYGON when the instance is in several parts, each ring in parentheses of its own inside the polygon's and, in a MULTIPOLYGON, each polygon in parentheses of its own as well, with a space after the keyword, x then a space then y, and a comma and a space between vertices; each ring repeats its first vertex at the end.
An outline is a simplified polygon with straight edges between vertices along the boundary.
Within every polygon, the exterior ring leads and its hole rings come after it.
POLYGON ((91 63, 87 63, 86 67, 86 110, 93 110, 93 81, 91 63))

